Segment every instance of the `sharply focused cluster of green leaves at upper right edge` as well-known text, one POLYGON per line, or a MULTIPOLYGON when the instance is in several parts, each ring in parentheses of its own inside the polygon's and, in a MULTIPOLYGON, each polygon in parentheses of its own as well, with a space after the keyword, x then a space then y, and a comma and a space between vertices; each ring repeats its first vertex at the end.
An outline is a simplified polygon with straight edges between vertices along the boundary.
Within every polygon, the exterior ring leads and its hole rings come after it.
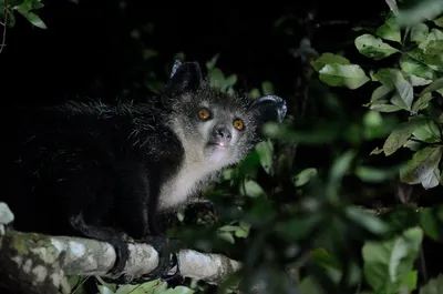
POLYGON ((440 45, 443 30, 430 29, 422 22, 401 30, 398 18, 394 13, 389 13, 385 23, 375 30, 380 38, 371 33, 356 38, 357 50, 374 61, 396 54, 391 67, 371 72, 372 80, 360 65, 348 61, 346 74, 322 79, 324 72, 331 68, 343 67, 343 58, 331 53, 323 53, 312 62, 312 67, 319 72, 320 80, 332 87, 354 90, 367 83, 373 84, 371 99, 364 104, 371 110, 408 113, 408 121, 391 132, 382 150, 389 156, 401 148, 411 149, 413 156, 401 171, 400 179, 408 184, 422 184, 423 187, 431 189, 442 184, 443 124, 439 122, 439 116, 443 112, 439 110, 439 103, 431 102, 441 98, 443 91, 443 47, 440 45), (392 41, 392 45, 387 41, 392 41), (323 62, 321 68, 319 62, 323 62), (351 70, 356 68, 360 70, 351 70), (356 80, 359 82, 350 82, 356 80), (423 89, 424 85, 426 87, 423 89))

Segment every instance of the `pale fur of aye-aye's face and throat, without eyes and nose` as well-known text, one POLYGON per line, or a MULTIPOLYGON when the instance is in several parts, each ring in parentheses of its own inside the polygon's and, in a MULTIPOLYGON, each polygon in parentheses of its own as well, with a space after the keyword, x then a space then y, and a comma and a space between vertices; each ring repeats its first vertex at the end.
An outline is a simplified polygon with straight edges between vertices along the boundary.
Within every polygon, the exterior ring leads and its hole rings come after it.
POLYGON ((203 183, 224 168, 237 163, 250 150, 255 135, 255 121, 238 101, 233 98, 204 99, 195 101, 194 97, 183 99, 177 111, 172 115, 171 128, 179 138, 185 150, 185 158, 175 175, 161 189, 158 209, 167 210, 186 204, 187 199, 203 183), (192 100, 194 99, 194 101, 192 100), (194 103, 193 103, 194 102, 194 103), (197 113, 202 108, 210 111, 212 118, 203 121, 197 113), (243 131, 234 128, 235 119, 241 119, 243 131), (214 129, 224 125, 230 132, 226 146, 213 144, 214 129))

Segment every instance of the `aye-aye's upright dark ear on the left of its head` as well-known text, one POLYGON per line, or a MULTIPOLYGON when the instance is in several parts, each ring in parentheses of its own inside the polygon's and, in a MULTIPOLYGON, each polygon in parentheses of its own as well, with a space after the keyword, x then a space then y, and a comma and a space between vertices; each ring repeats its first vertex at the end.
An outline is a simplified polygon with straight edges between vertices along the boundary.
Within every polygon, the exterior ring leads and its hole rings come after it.
POLYGON ((178 94, 196 91, 202 83, 202 70, 197 62, 184 62, 176 60, 171 71, 164 93, 178 94))

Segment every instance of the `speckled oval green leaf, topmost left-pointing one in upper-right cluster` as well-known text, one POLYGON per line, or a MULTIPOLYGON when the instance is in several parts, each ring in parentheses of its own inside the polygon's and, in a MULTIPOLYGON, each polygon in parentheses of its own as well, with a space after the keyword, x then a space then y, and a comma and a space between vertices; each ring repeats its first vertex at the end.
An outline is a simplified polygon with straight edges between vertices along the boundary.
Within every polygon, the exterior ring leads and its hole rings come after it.
POLYGON ((361 54, 374 60, 381 60, 400 52, 398 49, 384 43, 380 38, 369 33, 357 37, 354 44, 361 54))

